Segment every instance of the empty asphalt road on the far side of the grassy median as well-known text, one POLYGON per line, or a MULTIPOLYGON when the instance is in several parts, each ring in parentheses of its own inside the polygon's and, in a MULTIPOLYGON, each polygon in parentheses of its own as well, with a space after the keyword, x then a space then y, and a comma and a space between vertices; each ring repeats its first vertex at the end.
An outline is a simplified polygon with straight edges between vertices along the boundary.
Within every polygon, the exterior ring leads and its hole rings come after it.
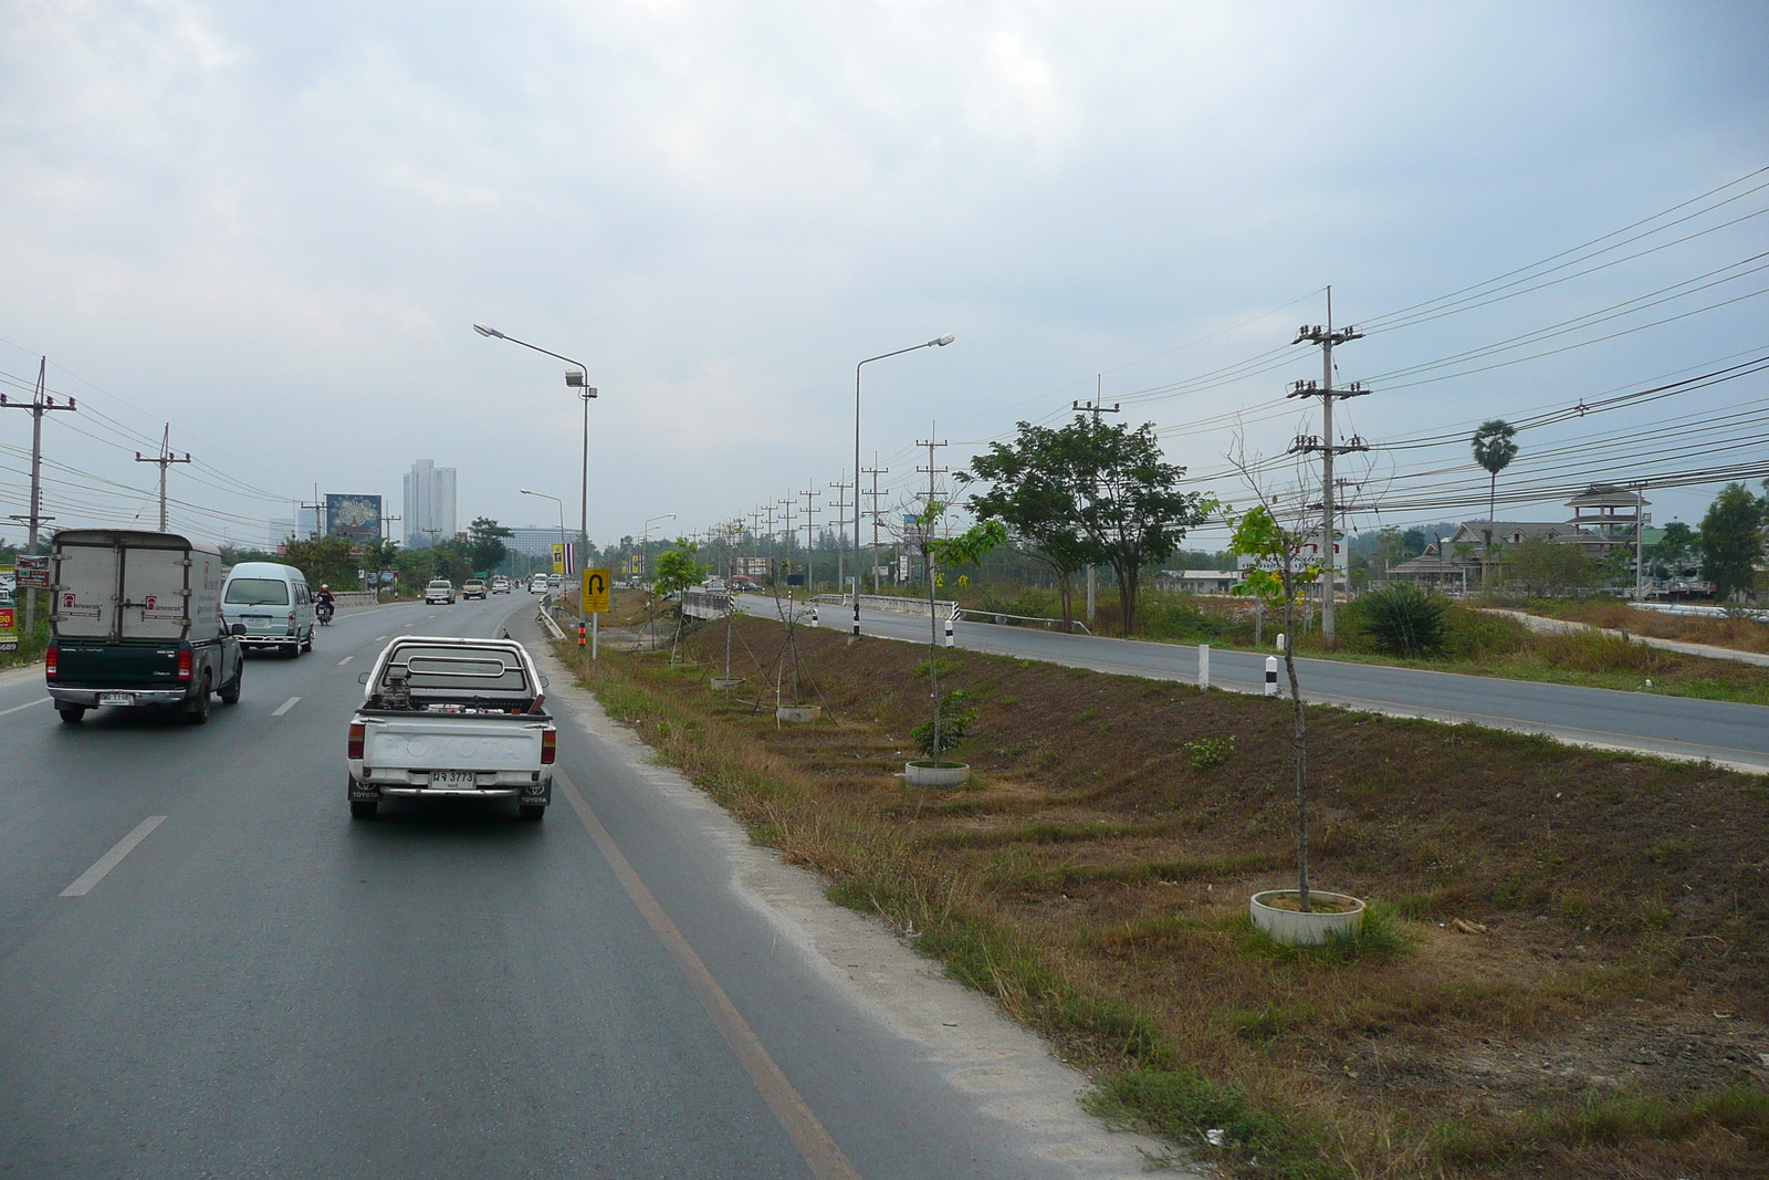
MULTIPOLYGON (((775 600, 741 594, 745 610, 775 616, 775 600)), ((847 630, 853 607, 819 607, 819 624, 847 630)), ((808 616, 807 616, 808 617, 808 616)), ((862 610, 862 632, 927 642, 927 616, 862 610)), ((1030 626, 957 623, 961 647, 1030 660, 1047 660, 1099 672, 1198 681, 1198 647, 1063 635, 1030 626)), ((1645 754, 1714 759, 1769 771, 1769 709, 1755 704, 1696 701, 1650 692, 1615 692, 1571 685, 1461 676, 1422 669, 1297 660, 1297 679, 1307 701, 1343 704, 1396 716, 1474 722, 1495 729, 1551 734, 1645 754)), ((1265 656, 1244 651, 1210 653, 1210 681, 1219 688, 1263 692, 1265 656)), ((1283 685, 1283 672, 1279 672, 1283 685)), ((1288 693, 1288 685, 1283 685, 1288 693)))

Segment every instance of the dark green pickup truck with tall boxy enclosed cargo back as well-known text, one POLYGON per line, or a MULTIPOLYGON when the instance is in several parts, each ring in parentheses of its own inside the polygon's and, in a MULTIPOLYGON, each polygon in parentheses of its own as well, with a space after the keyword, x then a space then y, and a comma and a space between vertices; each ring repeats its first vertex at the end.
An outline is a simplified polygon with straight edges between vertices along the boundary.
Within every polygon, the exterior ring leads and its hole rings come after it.
POLYGON ((221 619, 218 548, 173 533, 64 529, 50 570, 44 676, 64 722, 103 706, 172 706, 202 725, 211 695, 239 701, 246 662, 221 619))

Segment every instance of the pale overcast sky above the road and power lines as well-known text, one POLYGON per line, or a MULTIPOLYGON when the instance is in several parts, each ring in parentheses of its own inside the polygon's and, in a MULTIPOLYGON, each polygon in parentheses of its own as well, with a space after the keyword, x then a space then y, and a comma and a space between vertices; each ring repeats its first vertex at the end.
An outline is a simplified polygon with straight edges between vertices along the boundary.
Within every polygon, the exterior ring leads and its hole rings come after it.
MULTIPOLYGON (((414 458, 460 471, 462 527, 557 518, 520 487, 564 497, 575 525, 564 366, 474 322, 589 364, 603 543, 670 511, 699 529, 810 487, 828 502, 853 465, 854 363, 943 333, 948 349, 867 366, 863 446, 886 485, 915 479, 934 419, 941 464, 962 465, 1097 380, 1175 462, 1217 472, 1237 432, 1254 453, 1288 446, 1307 407, 1272 403, 1320 361, 1196 379, 1323 320, 1329 283, 1337 322, 1375 320, 1769 165, 1764 4, 0 12, 0 372, 30 382, 46 354, 50 387, 94 410, 44 426, 64 465, 46 508, 150 520, 154 467, 117 430, 157 441, 170 421, 202 460, 173 469, 195 506, 175 525, 251 541, 251 520, 290 515, 276 497, 315 485, 398 513, 414 458)), ((1394 375, 1718 271, 1495 359, 1580 347, 1375 380, 1350 430, 1458 441, 1357 456, 1366 495, 1470 485, 1459 437, 1484 418, 1769 352, 1769 271, 1735 265, 1769 251, 1769 216, 1748 216, 1769 209, 1750 193, 1765 179, 1574 271, 1613 265, 1344 347, 1341 379, 1394 375)), ((1753 375, 1525 432, 1514 476, 1548 479, 1527 460, 1558 453, 1638 478, 1640 442, 1672 418, 1716 464, 1758 458, 1765 405, 1753 375), (1700 416, 1742 410, 1702 433, 1700 416)), ((25 511, 28 426, 0 414, 0 515, 25 511)), ((1245 494, 1228 476, 1210 490, 1245 494)), ((1691 520, 1712 490, 1650 495, 1659 520, 1691 520)))

